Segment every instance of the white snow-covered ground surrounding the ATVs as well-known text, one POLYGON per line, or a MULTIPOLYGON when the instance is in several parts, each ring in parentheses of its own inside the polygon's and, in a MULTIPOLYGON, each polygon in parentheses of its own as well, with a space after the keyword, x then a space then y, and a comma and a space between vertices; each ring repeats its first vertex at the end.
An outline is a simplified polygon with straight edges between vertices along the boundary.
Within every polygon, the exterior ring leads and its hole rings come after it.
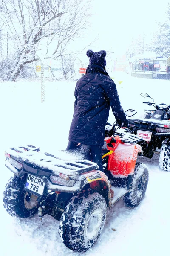
MULTIPOLYGON (((139 79, 124 73, 113 74, 124 110, 143 113, 143 98, 148 93, 157 104, 170 103, 170 81, 139 79), (122 81, 122 83, 120 83, 122 81)), ((2 256, 71 256, 62 244, 59 222, 45 215, 31 219, 12 218, 3 208, 3 190, 12 173, 4 166, 4 151, 25 143, 42 150, 65 149, 74 106, 76 82, 56 81, 45 84, 45 102, 41 103, 40 84, 0 83, 0 244, 2 256)), ((109 122, 113 123, 111 113, 109 122)), ((139 157, 149 169, 146 196, 136 208, 124 206, 121 200, 108 209, 107 221, 96 244, 86 256, 169 255, 170 172, 159 169, 159 155, 149 160, 139 157), (114 229, 115 231, 113 231, 114 229)))

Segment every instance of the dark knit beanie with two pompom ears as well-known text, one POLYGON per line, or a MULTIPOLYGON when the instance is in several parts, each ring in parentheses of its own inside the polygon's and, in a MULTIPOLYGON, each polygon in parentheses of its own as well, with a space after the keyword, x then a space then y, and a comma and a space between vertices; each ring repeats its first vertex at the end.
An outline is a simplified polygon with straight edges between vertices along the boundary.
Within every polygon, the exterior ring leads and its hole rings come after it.
POLYGON ((90 58, 90 64, 99 65, 103 68, 106 66, 106 52, 104 50, 101 50, 99 52, 93 52, 92 50, 88 50, 86 52, 86 55, 90 58))

